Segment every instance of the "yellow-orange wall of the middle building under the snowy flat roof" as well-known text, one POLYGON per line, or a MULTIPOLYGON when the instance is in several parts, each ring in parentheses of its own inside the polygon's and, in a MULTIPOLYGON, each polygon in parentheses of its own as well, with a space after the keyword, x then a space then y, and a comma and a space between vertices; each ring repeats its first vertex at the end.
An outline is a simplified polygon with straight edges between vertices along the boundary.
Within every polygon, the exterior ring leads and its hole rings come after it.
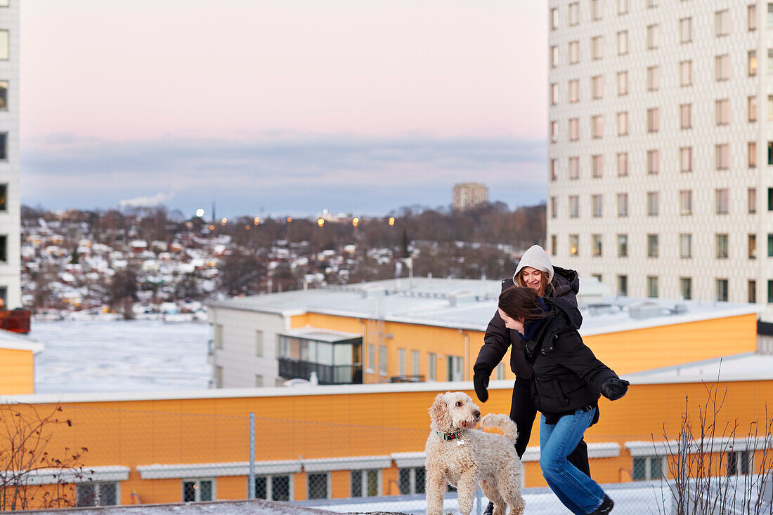
MULTIPOLYGON (((376 344, 376 351, 378 349, 376 342, 379 331, 374 320, 319 313, 305 313, 291 319, 291 326, 294 329, 307 325, 359 334, 363 334, 363 325, 365 325, 367 343, 376 344)), ((386 345, 387 352, 386 376, 364 374, 366 383, 384 382, 390 377, 400 375, 397 351, 399 348, 406 349, 408 375, 411 371, 410 351, 419 351, 420 373, 424 378, 427 378, 427 353, 434 352, 438 356, 438 381, 445 381, 448 377, 446 360, 448 355, 465 357, 465 337, 457 329, 385 321, 382 332, 393 336, 381 339, 382 344, 386 345)), ((472 366, 483 345, 484 333, 482 331, 465 331, 465 333, 469 335, 469 348, 467 375, 463 379, 472 380, 472 366)), ((748 314, 595 334, 584 337, 584 341, 588 347, 591 347, 596 357, 618 374, 630 374, 635 371, 669 367, 713 357, 754 352, 757 347, 757 319, 754 314, 748 314)), ((367 354, 366 350, 363 352, 367 354)), ((508 351, 502 359, 505 368, 504 378, 513 379, 515 376, 510 371, 509 359, 508 351)), ((367 364, 367 368, 377 371, 378 364, 367 364)))

